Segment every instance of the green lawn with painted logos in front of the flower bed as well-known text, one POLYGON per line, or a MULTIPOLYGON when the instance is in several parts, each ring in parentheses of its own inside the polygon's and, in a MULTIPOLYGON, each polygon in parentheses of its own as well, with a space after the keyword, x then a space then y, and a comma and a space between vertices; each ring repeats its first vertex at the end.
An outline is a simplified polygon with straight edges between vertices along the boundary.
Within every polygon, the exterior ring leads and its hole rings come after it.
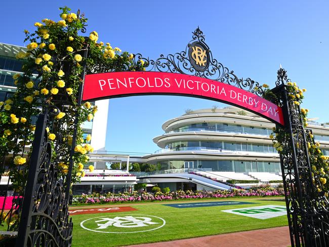
MULTIPOLYGON (((282 197, 281 197, 282 198, 282 197)), ((228 232, 246 231, 261 228, 269 228, 276 226, 287 225, 287 217, 279 216, 275 218, 260 220, 246 216, 234 215, 222 210, 258 207, 260 205, 285 205, 283 201, 269 200, 274 198, 249 198, 236 199, 230 198, 225 200, 207 200, 207 201, 246 201, 255 202, 255 204, 242 205, 222 205, 214 207, 199 207, 199 208, 173 208, 162 204, 179 203, 177 201, 163 202, 163 203, 136 203, 129 204, 130 207, 138 211, 116 212, 116 213, 99 213, 99 214, 84 214, 73 215, 73 247, 79 246, 120 246, 138 243, 150 243, 159 241, 169 241, 174 239, 191 238, 197 236, 214 235, 228 232), (265 200, 266 199, 266 200, 265 200), (86 230, 80 226, 84 220, 95 217, 114 218, 134 216, 134 215, 150 215, 164 219, 166 224, 156 230, 132 233, 132 231, 149 230, 162 225, 160 219, 153 218, 153 222, 157 224, 148 225, 145 227, 135 228, 118 228, 114 226, 107 227, 105 230, 99 231, 127 231, 129 233, 101 233, 86 230)), ((183 201, 180 203, 195 203, 201 202, 199 200, 183 201)), ((123 207, 127 204, 111 205, 111 207, 123 207)), ((106 207, 106 205, 101 205, 106 207)), ((92 207, 92 206, 91 206, 92 207)), ((147 217, 147 216, 144 216, 147 217)), ((84 223, 84 226, 91 229, 96 229, 97 223, 93 219, 84 223)), ((104 222, 101 222, 104 223, 104 222)))

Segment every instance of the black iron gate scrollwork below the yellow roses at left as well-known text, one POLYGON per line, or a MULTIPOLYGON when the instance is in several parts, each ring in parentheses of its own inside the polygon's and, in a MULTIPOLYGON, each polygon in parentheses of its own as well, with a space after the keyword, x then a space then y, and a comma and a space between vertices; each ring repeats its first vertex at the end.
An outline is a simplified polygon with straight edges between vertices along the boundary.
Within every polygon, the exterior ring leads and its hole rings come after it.
POLYGON ((23 201, 22 222, 16 246, 71 245, 73 224, 69 219, 68 200, 63 189, 69 185, 64 184, 63 179, 58 176, 57 163, 52 160, 52 146, 46 130, 50 127, 52 118, 59 112, 57 107, 51 106, 38 117, 36 130, 42 131, 35 134, 35 142, 39 141, 40 145, 33 145, 34 159, 31 156, 31 160, 37 162, 34 165, 31 163, 29 170, 34 180, 28 181, 32 184, 32 196, 26 196, 23 201), (39 134, 42 134, 41 138, 37 138, 39 134), (37 150, 37 147, 40 148, 37 150))

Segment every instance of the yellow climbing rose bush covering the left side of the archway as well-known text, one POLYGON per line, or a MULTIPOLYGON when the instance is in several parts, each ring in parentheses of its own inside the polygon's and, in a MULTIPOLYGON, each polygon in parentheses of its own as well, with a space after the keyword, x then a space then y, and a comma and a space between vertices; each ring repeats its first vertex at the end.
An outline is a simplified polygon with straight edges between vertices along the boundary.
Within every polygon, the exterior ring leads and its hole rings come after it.
POLYGON ((27 52, 17 56, 23 62, 22 73, 13 76, 17 91, 0 104, 0 157, 9 157, 12 185, 21 196, 32 152, 32 148, 26 146, 33 143, 36 128, 33 117, 50 106, 58 109, 47 130, 52 146, 51 161, 65 183, 70 153, 74 153, 71 182, 75 183, 84 176, 81 164, 88 163, 87 155, 93 151, 88 143, 92 137, 83 138, 80 126, 91 121, 97 112, 93 103, 78 104, 79 87, 83 83, 81 73, 85 68, 86 73, 144 69, 140 63, 134 63, 130 53, 112 49, 109 43, 98 43, 101 35, 96 31, 80 35, 86 30, 87 19, 71 13, 67 7, 60 10, 58 20, 35 22, 34 31, 25 32, 27 52), (33 80, 32 74, 37 74, 33 80), (69 128, 74 122, 77 126, 69 128))

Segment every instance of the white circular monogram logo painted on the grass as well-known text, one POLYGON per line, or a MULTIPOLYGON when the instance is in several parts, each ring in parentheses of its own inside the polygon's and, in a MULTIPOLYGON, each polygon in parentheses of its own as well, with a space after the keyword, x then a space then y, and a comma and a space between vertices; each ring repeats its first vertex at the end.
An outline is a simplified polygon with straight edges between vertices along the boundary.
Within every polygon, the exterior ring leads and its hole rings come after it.
POLYGON ((152 215, 101 216, 84 220, 80 226, 86 230, 104 233, 135 233, 153 231, 166 225, 166 221, 152 215))

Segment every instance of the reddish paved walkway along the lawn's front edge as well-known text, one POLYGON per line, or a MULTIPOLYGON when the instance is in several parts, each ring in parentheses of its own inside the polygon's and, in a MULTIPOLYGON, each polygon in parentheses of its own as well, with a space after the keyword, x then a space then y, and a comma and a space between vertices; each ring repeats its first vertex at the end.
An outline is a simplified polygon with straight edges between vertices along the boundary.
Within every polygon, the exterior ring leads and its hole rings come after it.
POLYGON ((289 228, 287 226, 261 230, 244 231, 195 237, 168 242, 130 245, 134 247, 287 247, 290 246, 289 228))

